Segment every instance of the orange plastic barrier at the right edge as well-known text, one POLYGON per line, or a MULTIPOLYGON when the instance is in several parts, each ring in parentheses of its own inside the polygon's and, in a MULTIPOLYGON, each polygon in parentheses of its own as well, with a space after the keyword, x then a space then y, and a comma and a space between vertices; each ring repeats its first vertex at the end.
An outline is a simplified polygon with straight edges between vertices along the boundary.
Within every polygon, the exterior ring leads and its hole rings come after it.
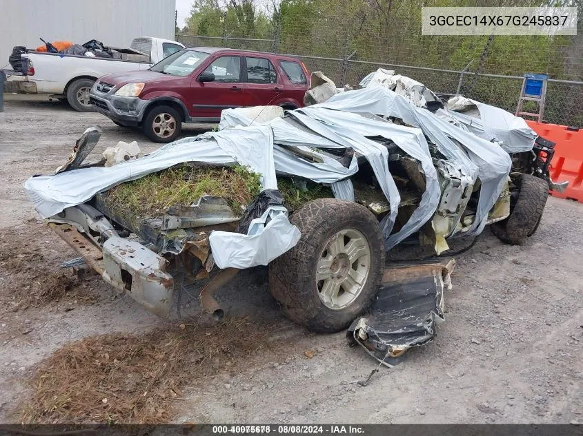
POLYGON ((556 143, 549 174, 553 182, 569 182, 564 193, 551 191, 558 198, 571 198, 583 203, 583 129, 566 125, 526 121, 529 127, 543 138, 556 143))

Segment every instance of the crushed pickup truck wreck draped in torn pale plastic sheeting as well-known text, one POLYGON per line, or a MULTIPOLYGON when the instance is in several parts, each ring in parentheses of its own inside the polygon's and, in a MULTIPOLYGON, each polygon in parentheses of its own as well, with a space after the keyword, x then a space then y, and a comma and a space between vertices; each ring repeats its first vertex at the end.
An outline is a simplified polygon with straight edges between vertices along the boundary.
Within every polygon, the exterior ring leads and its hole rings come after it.
POLYGON ((292 320, 339 331, 369 309, 399 242, 439 254, 491 225, 518 244, 549 187, 561 189, 549 179, 553 143, 522 119, 377 73, 285 114, 225 110, 218 132, 109 167, 83 164, 100 134, 88 129, 57 174, 25 187, 90 267, 158 315, 199 280, 203 309, 220 316, 213 292, 268 265, 292 320))

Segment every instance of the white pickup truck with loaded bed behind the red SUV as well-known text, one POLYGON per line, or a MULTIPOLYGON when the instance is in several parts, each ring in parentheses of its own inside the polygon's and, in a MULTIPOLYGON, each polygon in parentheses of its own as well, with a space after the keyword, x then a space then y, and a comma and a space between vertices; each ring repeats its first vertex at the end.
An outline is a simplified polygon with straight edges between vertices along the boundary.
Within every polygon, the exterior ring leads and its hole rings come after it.
POLYGON ((122 59, 76 56, 62 53, 28 52, 21 56, 22 73, 6 71, 6 92, 52 94, 66 100, 79 112, 92 112, 89 92, 105 74, 148 70, 166 56, 184 48, 168 39, 141 37, 129 49, 119 49, 122 59), (13 73, 13 74, 12 74, 13 73))

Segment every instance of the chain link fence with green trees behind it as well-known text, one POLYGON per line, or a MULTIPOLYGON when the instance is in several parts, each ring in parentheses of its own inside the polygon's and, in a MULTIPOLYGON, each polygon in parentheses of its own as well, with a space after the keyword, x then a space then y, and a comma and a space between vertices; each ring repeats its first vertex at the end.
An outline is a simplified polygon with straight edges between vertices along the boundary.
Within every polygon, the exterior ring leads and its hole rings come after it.
MULTIPOLYGON (((504 6, 540 3, 502 2, 504 6)), ((188 46, 294 54, 308 70, 324 72, 339 86, 355 87, 366 74, 386 68, 424 83, 435 92, 464 94, 512 113, 524 73, 547 74, 550 80, 544 120, 583 126, 581 22, 577 35, 572 37, 433 37, 421 34, 421 6, 446 6, 439 0, 282 0, 277 6, 276 3, 273 8, 260 11, 249 6, 257 2, 233 0, 215 10, 214 16, 197 12, 192 14, 184 32, 177 35, 177 41, 188 46), (214 27, 209 23, 215 23, 214 27)), ((500 1, 486 3, 482 1, 480 6, 500 6, 500 1)))

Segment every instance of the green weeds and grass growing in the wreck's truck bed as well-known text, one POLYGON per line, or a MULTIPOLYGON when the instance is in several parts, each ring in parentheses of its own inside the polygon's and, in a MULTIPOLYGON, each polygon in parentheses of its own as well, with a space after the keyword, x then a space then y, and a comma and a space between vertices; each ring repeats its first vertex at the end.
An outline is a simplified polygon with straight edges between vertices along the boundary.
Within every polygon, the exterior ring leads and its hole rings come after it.
POLYGON ((259 174, 246 167, 181 165, 122 183, 106 194, 112 209, 138 216, 160 216, 172 205, 191 205, 206 194, 223 197, 233 209, 246 207, 261 191, 259 174))

